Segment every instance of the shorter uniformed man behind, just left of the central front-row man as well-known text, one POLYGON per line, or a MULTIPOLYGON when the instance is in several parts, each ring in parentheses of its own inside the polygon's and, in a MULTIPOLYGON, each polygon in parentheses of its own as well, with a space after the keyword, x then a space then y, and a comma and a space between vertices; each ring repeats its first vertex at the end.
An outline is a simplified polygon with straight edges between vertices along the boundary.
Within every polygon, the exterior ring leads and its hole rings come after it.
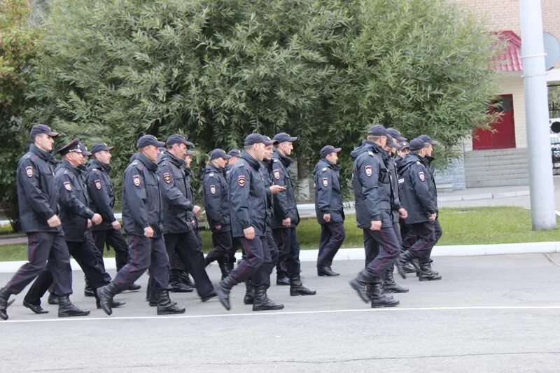
POLYGON ((210 152, 210 160, 202 175, 202 190, 204 191, 204 211, 210 230, 214 248, 206 255, 204 262, 209 265, 218 260, 225 279, 230 272, 228 269, 229 255, 232 250, 232 234, 230 225, 230 197, 228 183, 225 181, 225 165, 230 155, 222 149, 210 152))

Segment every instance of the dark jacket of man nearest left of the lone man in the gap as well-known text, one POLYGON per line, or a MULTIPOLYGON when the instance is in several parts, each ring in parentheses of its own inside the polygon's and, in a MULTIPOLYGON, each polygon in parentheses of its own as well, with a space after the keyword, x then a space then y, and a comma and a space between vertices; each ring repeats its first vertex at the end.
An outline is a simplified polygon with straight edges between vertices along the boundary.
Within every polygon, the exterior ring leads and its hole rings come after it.
POLYGON ((286 228, 282 225, 282 220, 290 218, 290 227, 297 227, 300 223, 300 213, 297 211, 297 201, 295 200, 295 190, 292 177, 288 173, 288 168, 293 163, 290 157, 281 155, 278 150, 272 155, 272 183, 286 187, 286 191, 279 192, 274 196, 274 216, 272 217, 272 229, 286 228))

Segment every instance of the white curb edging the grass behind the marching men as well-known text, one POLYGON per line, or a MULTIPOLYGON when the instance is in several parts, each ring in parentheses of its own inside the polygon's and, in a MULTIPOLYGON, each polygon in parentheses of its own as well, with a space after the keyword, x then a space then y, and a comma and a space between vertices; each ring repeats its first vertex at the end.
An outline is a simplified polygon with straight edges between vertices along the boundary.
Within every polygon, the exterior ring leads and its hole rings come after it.
MULTIPOLYGON (((540 253, 560 253, 560 241, 553 242, 526 242, 522 244, 495 244, 495 245, 454 245, 454 246, 435 246, 432 256, 477 256, 477 255, 510 255, 510 254, 540 254, 540 253)), ((301 262, 315 262, 318 250, 300 251, 301 262)), ((235 257, 241 259, 241 253, 236 253, 235 257)), ((365 260, 363 248, 341 248, 335 260, 365 260)), ((80 266, 76 260, 71 259, 73 271, 79 271, 80 266)), ((116 269, 113 258, 104 258, 105 269, 116 269)), ((0 273, 16 272, 24 261, 0 262, 0 273)))

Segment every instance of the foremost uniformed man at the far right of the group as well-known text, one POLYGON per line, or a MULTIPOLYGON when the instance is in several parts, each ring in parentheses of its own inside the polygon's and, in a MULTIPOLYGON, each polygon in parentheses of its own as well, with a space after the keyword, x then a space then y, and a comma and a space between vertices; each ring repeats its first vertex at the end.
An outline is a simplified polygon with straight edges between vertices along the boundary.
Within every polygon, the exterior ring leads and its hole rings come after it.
POLYGON ((400 195, 402 204, 409 211, 409 235, 416 237, 414 244, 398 258, 400 265, 412 259, 419 261, 419 280, 433 281, 442 277, 430 269, 430 252, 436 242, 435 219, 437 197, 433 176, 423 157, 430 153, 431 143, 420 137, 410 141, 410 153, 400 162, 400 195))

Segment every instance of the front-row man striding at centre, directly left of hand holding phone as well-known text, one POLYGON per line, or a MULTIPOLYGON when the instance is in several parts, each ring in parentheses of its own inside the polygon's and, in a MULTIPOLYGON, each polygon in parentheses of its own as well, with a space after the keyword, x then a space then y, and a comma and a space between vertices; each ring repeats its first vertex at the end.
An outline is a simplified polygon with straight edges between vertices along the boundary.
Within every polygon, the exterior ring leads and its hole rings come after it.
POLYGON ((246 254, 246 259, 216 286, 218 298, 228 310, 232 287, 249 278, 255 289, 253 311, 283 309, 283 304, 267 297, 272 258, 266 250, 267 189, 259 170, 269 145, 272 141, 261 134, 248 135, 241 160, 232 167, 228 178, 233 237, 241 239, 246 254))

